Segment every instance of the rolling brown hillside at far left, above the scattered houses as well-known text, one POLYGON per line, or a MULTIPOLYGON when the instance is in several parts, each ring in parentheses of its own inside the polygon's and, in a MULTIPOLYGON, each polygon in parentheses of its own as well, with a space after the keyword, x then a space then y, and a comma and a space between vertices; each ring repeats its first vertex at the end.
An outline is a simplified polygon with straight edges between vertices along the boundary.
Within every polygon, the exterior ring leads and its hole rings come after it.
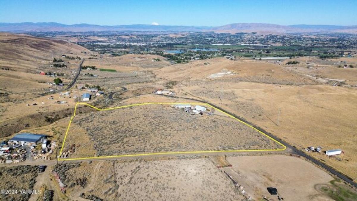
POLYGON ((60 76, 63 82, 70 82, 72 70, 78 68, 80 60, 62 58, 67 67, 55 68, 51 66, 53 58, 60 58, 63 54, 83 58, 86 53, 91 53, 62 40, 9 33, 0 33, 0 47, 0 93, 4 94, 0 102, 12 102, 48 92, 53 87, 46 83, 53 82, 54 78, 40 75, 42 71, 63 74, 60 76))

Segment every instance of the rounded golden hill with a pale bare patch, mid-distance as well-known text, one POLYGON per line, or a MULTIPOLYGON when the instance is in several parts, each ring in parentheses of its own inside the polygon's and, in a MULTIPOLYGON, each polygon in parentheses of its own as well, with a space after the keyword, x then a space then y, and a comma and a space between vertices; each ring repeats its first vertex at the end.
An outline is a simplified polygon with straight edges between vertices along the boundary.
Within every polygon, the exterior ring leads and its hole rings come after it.
POLYGON ((207 59, 204 61, 194 61, 187 64, 173 65, 170 67, 155 70, 157 77, 165 80, 202 80, 220 79, 209 78, 220 72, 231 72, 231 75, 224 75, 226 82, 257 82, 268 84, 303 85, 317 84, 316 81, 295 73, 291 70, 281 68, 279 65, 261 61, 232 61, 226 58, 207 59), (205 65, 204 63, 210 63, 205 65))

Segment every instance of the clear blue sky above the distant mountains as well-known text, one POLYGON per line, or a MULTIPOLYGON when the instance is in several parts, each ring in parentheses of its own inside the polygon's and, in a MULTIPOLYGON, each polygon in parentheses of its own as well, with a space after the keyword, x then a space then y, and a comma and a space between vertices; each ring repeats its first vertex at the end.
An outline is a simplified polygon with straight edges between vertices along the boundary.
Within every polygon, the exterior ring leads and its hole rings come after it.
POLYGON ((357 0, 0 0, 0 22, 357 25, 357 0))

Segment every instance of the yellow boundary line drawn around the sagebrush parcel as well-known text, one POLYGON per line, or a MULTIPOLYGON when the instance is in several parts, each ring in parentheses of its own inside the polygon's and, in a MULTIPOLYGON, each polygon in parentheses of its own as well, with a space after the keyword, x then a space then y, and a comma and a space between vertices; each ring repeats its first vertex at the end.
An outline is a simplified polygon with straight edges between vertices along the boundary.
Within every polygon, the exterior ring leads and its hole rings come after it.
POLYGON ((133 107, 133 106, 143 106, 143 105, 151 105, 151 104, 160 104, 160 105, 164 105, 164 104, 190 104, 190 105, 203 105, 203 106, 208 106, 208 107, 212 107, 212 108, 215 108, 215 110, 217 111, 220 111, 224 114, 226 114, 227 116, 237 120, 238 122, 241 122, 243 124, 245 124, 246 126, 250 127, 250 128, 253 128, 254 130, 258 131, 259 133, 263 134, 265 137, 271 139, 272 141, 280 144, 283 148, 282 149, 247 149, 247 150, 221 150, 221 151, 180 151, 180 152, 159 152, 159 153, 138 153, 138 154, 130 154, 130 155, 117 155, 117 156, 95 156, 95 157, 84 157, 84 158, 66 158, 66 159, 61 159, 59 158, 58 160, 59 161, 66 161, 66 160, 85 160, 85 159, 94 159, 94 158, 116 158, 116 157, 130 157, 130 156, 150 156, 150 155, 164 155, 164 154, 177 154, 177 153, 213 153, 213 152, 254 152, 254 151, 284 151, 286 149, 286 146, 283 145, 282 143, 278 142, 277 140, 273 139, 272 137, 268 136, 267 134, 261 132, 259 129, 253 127, 252 125, 246 123, 246 122, 243 122, 241 121, 240 119, 226 113, 226 112, 223 112, 222 110, 216 108, 216 107, 213 107, 211 106, 210 104, 208 103, 155 103, 155 102, 152 102, 152 103, 137 103, 137 104, 130 104, 130 105, 126 105, 126 106, 119 106, 119 107, 113 107, 113 108, 106 108, 106 109, 99 109, 99 108, 96 108, 90 104, 87 104, 87 103, 77 103, 75 108, 74 108, 74 113, 73 113, 73 116, 71 117, 70 121, 69 121, 69 124, 68 124, 68 127, 67 127, 67 131, 66 131, 66 134, 65 134, 65 138, 62 142, 62 147, 61 147, 61 151, 60 151, 60 154, 59 156, 62 155, 62 151, 63 151, 63 147, 64 147, 64 144, 65 144, 65 141, 66 141, 66 138, 67 138, 67 134, 68 134, 68 131, 69 131, 69 128, 71 126, 71 122, 73 120, 73 118, 76 116, 76 111, 77 111, 77 106, 78 105, 85 105, 85 106, 89 106, 91 108, 94 108, 98 111, 106 111, 106 110, 111 110, 111 109, 120 109, 120 108, 127 108, 127 107, 133 107))

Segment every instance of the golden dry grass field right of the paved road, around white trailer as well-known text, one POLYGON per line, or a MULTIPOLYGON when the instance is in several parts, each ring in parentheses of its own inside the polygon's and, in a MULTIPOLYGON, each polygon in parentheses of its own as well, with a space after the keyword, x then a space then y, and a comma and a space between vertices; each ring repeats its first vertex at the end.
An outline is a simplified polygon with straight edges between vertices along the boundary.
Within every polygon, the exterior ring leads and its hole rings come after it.
MULTIPOLYGON (((233 63, 240 63, 240 61, 233 63)), ((188 66, 189 64, 184 65, 188 66)), ((212 62, 210 65, 214 66, 215 64, 212 62)), ((263 65, 263 63, 243 62, 239 65, 251 65, 250 74, 255 74, 262 72, 262 69, 257 65, 263 65)), ((286 75, 282 74, 282 77, 273 73, 274 79, 287 77, 287 80, 290 79, 292 84, 268 84, 265 80, 235 80, 234 76, 240 75, 238 73, 215 79, 186 80, 178 83, 174 89, 178 96, 203 99, 222 106, 301 149, 308 146, 322 146, 323 151, 341 148, 345 154, 337 158, 328 158, 316 153, 311 154, 356 180, 356 89, 318 85, 316 81, 306 78, 302 73, 284 70, 286 67, 275 64, 268 64, 266 68, 269 66, 275 69, 274 72, 278 72, 276 69, 280 68, 281 72, 287 73, 286 75), (314 84, 311 85, 311 82, 314 84), (305 84, 300 85, 301 83, 305 84)), ((195 74, 192 72, 203 70, 203 68, 193 63, 191 67, 176 74, 194 77, 195 74)), ((229 69, 227 66, 222 68, 229 69)), ((217 69, 217 71, 219 70, 217 69)), ((156 71, 156 73, 162 73, 157 74, 157 77, 174 76, 175 74, 166 74, 161 71, 156 71)), ((209 72, 203 77, 211 73, 215 72, 209 72)))

